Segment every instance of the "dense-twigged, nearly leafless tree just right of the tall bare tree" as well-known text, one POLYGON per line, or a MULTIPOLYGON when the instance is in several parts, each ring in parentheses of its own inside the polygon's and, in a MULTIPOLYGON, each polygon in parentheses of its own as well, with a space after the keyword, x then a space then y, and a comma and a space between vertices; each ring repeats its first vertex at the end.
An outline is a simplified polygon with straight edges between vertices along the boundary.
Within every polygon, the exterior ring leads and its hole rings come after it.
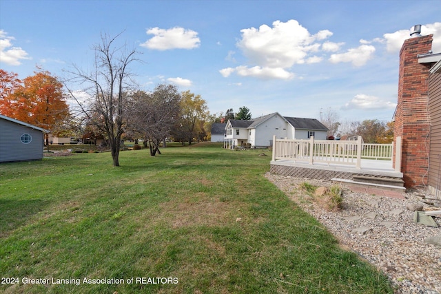
POLYGON ((141 134, 155 156, 159 144, 170 136, 181 109, 181 94, 174 85, 158 85, 154 92, 135 92, 133 95, 130 129, 141 134))

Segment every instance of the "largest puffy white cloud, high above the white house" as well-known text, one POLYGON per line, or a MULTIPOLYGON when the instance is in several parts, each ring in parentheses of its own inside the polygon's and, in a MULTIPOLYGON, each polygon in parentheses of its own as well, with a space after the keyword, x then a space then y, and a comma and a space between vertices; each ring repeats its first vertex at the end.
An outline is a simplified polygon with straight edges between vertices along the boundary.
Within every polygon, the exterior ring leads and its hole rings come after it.
MULTIPOLYGON (((224 77, 236 73, 239 76, 289 80, 294 78, 294 73, 289 70, 293 65, 322 61, 323 58, 316 54, 322 46, 318 41, 332 35, 329 30, 310 34, 294 19, 285 23, 274 21, 272 28, 264 24, 259 28, 247 28, 240 32, 242 39, 236 45, 252 65, 224 68, 219 71, 224 77)), ((228 61, 236 61, 233 53, 228 53, 228 61)))

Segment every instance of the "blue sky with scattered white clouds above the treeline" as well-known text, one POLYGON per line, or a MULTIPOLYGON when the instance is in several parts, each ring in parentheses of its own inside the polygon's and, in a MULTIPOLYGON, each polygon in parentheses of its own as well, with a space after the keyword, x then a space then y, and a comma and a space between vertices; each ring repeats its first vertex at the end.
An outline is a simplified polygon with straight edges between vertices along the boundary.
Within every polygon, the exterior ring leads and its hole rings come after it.
POLYGON ((64 78, 92 65, 101 34, 123 32, 142 53, 131 70, 143 90, 178 85, 212 114, 391 120, 398 54, 416 24, 441 52, 439 1, 0 0, 0 67, 64 78))

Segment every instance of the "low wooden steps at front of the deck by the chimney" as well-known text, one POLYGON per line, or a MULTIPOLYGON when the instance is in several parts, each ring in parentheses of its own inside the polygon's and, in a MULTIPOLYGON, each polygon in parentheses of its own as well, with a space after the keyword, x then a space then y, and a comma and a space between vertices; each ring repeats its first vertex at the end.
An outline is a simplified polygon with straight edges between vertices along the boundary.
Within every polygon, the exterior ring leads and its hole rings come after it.
POLYGON ((339 182, 342 185, 356 187, 370 187, 384 189, 389 191, 404 192, 404 181, 402 178, 394 178, 390 176, 373 176, 373 175, 357 175, 353 174, 352 180, 342 178, 332 178, 332 182, 339 182))

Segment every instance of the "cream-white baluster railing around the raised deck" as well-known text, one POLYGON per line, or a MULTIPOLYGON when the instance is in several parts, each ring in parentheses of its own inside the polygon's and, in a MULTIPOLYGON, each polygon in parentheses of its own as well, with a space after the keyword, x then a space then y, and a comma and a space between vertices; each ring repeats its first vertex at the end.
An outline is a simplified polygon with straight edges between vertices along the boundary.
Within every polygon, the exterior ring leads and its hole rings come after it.
POLYGON ((338 165, 351 165, 361 168, 361 159, 392 160, 393 149, 397 151, 395 170, 400 171, 401 166, 401 137, 398 137, 394 146, 391 144, 363 144, 358 140, 309 140, 276 139, 273 137, 273 161, 293 160, 294 162, 322 162, 338 165))

